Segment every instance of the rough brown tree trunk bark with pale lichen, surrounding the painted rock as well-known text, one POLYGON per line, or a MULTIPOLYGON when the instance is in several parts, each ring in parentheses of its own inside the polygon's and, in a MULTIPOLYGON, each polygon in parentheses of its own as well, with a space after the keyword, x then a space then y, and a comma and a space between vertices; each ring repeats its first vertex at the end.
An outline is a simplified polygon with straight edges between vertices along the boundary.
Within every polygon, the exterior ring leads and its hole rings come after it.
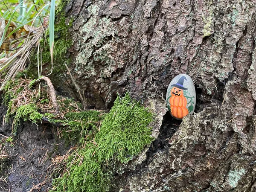
POLYGON ((129 91, 156 114, 156 141, 118 177, 116 191, 256 190, 255 5, 70 0, 69 68, 87 106, 110 108, 116 93, 129 91), (165 96, 180 73, 195 82, 197 104, 179 125, 165 96))

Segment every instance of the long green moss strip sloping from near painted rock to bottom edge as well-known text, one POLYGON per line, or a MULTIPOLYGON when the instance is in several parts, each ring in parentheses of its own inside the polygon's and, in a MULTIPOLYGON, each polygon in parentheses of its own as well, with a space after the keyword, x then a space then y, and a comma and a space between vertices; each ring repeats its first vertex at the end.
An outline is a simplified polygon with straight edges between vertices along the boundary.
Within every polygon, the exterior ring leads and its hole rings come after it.
POLYGON ((128 94, 122 99, 118 96, 111 111, 105 115, 94 142, 68 159, 69 172, 53 181, 53 191, 109 191, 116 172, 115 164, 127 163, 153 140, 148 127, 152 119, 148 109, 132 101, 128 94))

